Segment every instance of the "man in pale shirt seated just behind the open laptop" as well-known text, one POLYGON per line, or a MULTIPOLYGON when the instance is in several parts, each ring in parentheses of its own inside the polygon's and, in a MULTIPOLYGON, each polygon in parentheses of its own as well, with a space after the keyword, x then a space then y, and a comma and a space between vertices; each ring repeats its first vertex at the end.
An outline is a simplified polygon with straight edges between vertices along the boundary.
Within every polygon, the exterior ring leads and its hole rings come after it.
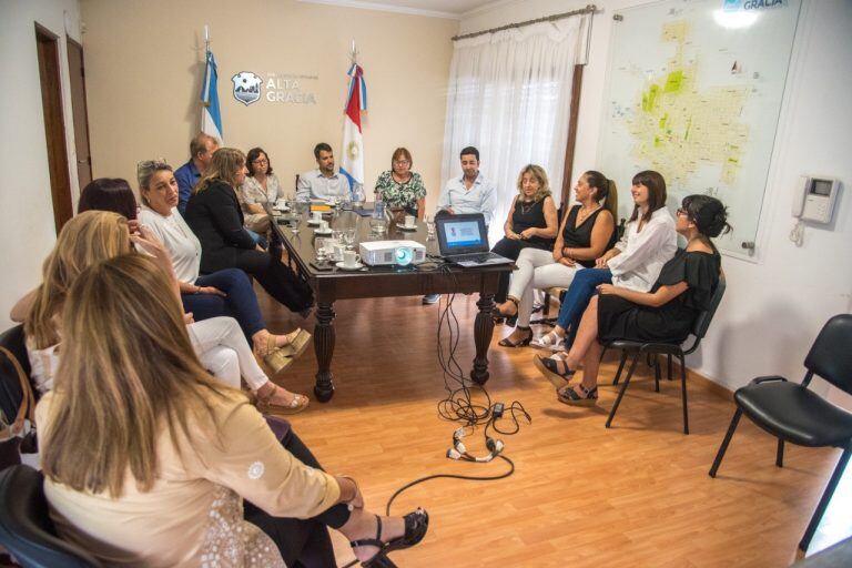
MULTIPOLYGON (((438 212, 446 211, 450 215, 464 213, 481 213, 485 226, 491 224, 494 209, 497 206, 497 187, 479 171, 479 151, 467 146, 459 154, 462 160, 462 178, 453 178, 444 185, 438 197, 438 212)), ((424 304, 435 304, 440 294, 426 294, 424 304)))

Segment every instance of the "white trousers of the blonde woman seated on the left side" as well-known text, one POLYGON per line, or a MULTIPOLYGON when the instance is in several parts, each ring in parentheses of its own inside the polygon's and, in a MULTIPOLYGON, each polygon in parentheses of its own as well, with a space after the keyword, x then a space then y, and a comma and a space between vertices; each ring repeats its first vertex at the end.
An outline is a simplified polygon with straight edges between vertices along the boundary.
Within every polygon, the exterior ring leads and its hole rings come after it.
POLYGON ((233 317, 211 317, 187 325, 186 331, 201 364, 223 383, 240 388, 242 376, 256 392, 270 381, 233 317))

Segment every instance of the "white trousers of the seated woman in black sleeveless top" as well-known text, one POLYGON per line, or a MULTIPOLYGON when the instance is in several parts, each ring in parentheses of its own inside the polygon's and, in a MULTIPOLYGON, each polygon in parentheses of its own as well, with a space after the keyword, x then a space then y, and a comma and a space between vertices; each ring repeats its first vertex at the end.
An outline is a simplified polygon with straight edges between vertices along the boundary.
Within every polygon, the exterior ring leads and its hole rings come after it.
POLYGON ((541 248, 524 248, 518 260, 518 267, 511 274, 509 296, 518 300, 518 326, 528 327, 529 317, 532 314, 532 291, 547 290, 552 286, 567 288, 570 286, 574 275, 582 268, 579 264, 566 266, 554 261, 551 251, 541 248))

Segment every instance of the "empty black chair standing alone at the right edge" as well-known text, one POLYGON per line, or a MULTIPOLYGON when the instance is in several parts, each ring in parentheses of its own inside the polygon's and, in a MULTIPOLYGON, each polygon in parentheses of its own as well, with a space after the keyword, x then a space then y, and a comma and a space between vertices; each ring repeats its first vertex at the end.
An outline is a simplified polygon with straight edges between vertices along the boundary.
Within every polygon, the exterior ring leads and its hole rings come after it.
POLYGON ((813 375, 818 375, 835 387, 852 394, 852 314, 835 315, 822 327, 816 341, 804 359, 808 372, 801 384, 794 384, 780 376, 752 379, 733 394, 737 412, 716 455, 710 477, 716 477, 728 444, 743 413, 751 420, 778 437, 775 465, 783 467, 784 442, 809 447, 843 448, 829 485, 813 511, 811 521, 799 542, 802 552, 808 550, 816 526, 820 524, 834 488, 852 456, 852 413, 829 403, 813 390, 808 389, 813 375))

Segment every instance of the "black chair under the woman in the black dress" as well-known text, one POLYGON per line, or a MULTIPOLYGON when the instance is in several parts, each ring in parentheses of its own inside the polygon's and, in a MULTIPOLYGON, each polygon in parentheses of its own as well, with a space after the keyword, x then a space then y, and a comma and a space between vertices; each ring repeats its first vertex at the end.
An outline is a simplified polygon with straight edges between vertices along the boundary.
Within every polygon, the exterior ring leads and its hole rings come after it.
MULTIPOLYGON (((655 357, 653 385, 655 385, 655 390, 659 393, 660 392, 660 365, 659 365, 659 361, 657 361, 656 357, 657 355, 668 355, 669 381, 671 381, 671 357, 672 355, 674 355, 680 359, 680 384, 681 384, 681 395, 683 398, 683 434, 689 434, 689 409, 687 407, 686 356, 694 352, 698 348, 698 346, 701 344, 701 339, 704 337, 704 335, 707 335, 707 329, 710 327, 710 322, 712 322, 713 315, 716 315, 716 310, 719 307, 719 304, 722 302, 722 296, 724 295, 726 287, 727 287, 727 284, 724 280, 724 273, 722 273, 719 275, 719 283, 716 285, 713 295, 710 298, 710 305, 707 307, 707 310, 698 314, 698 317, 696 317, 696 323, 692 324, 692 336, 694 337, 694 339, 692 342, 692 345, 686 351, 683 349, 682 345, 679 343, 641 343, 641 342, 617 339, 613 342, 609 342, 605 345, 605 349, 609 349, 609 348, 621 349, 621 362, 618 365, 616 377, 612 379, 613 385, 617 385, 621 377, 621 372, 625 368, 627 356, 629 354, 633 355, 632 361, 630 362, 630 367, 627 371, 627 377, 625 377, 625 382, 618 392, 618 396, 616 397, 616 403, 612 405, 612 409, 609 412, 609 417, 607 418, 607 428, 609 428, 610 425, 612 424, 612 418, 615 418, 616 416, 616 410, 618 410, 618 405, 621 404, 621 397, 625 396, 625 390, 627 390, 627 385, 630 384, 630 378, 633 376, 633 372, 636 371, 636 364, 639 362, 639 357, 641 355, 645 355, 647 357, 650 357, 650 356, 655 357)), ((601 354, 601 357, 602 357, 602 354, 601 354)))

